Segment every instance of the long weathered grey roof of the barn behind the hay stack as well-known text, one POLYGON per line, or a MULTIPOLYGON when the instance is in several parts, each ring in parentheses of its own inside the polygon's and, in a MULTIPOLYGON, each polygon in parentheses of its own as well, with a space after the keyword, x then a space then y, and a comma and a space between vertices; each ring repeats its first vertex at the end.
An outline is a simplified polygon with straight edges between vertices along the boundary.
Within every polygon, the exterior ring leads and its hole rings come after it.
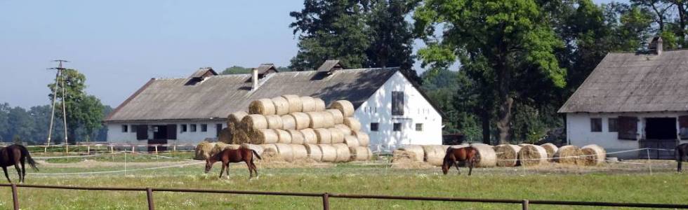
POLYGON ((253 100, 283 94, 320 97, 327 104, 348 99, 357 109, 395 72, 396 68, 347 69, 331 75, 317 71, 269 73, 256 90, 251 90, 251 74, 211 76, 196 85, 185 85, 187 78, 153 78, 105 122, 222 119, 246 111, 253 100))

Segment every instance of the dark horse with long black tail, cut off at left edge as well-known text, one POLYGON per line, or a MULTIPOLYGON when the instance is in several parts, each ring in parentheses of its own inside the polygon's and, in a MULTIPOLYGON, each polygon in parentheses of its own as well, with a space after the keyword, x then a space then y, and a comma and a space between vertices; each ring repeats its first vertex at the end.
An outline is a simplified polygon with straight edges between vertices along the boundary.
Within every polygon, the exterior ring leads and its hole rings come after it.
POLYGON ((0 167, 2 167, 2 170, 5 172, 5 177, 8 182, 12 181, 10 180, 10 176, 7 175, 7 167, 14 165, 14 168, 17 169, 17 173, 19 174, 19 182, 24 183, 24 177, 26 176, 26 169, 24 168, 25 161, 29 162, 32 169, 38 171, 36 162, 31 158, 29 151, 24 146, 13 144, 0 148, 0 167), (22 165, 22 169, 19 169, 20 164, 22 165))

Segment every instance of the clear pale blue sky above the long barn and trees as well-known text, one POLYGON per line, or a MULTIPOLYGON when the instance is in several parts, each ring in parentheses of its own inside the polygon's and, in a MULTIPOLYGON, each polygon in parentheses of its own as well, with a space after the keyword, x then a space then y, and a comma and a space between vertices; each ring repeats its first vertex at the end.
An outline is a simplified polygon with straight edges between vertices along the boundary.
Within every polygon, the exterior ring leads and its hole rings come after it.
MULTIPOLYGON (((596 2, 608 2, 597 0, 596 2)), ((199 67, 289 64, 289 12, 303 1, 0 1, 0 103, 49 104, 52 59, 119 105, 150 78, 199 67)))

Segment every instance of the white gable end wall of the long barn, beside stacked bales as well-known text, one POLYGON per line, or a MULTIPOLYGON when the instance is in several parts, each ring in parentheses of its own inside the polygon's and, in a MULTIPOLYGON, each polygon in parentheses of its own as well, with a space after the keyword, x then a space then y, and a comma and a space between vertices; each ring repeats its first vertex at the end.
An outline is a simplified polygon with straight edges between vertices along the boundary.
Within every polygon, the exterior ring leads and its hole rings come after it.
POLYGON ((370 135, 371 149, 390 151, 404 144, 442 144, 442 116, 432 108, 402 73, 395 73, 354 113, 364 132, 370 135), (404 92, 404 116, 392 116, 392 91, 404 92), (380 123, 377 132, 370 123, 380 123), (392 131, 393 123, 402 123, 402 131, 392 131), (416 123, 423 131, 416 132, 416 123))

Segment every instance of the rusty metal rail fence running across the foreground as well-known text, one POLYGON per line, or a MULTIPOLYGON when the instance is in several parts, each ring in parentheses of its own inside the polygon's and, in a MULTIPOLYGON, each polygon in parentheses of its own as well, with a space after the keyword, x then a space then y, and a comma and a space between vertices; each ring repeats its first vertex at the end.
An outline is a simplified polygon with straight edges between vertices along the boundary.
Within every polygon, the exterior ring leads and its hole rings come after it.
POLYGON ((0 183, 0 186, 10 187, 12 190, 12 203, 14 209, 18 210, 19 195, 18 188, 48 188, 62 190, 103 190, 103 191, 141 191, 146 192, 148 209, 155 209, 153 202, 153 192, 173 192, 173 193, 220 193, 234 195, 272 195, 272 196, 293 196, 293 197, 320 197, 322 198, 322 209, 328 210, 331 197, 345 199, 373 199, 373 200, 417 200, 417 201, 439 201, 439 202, 481 202, 481 203, 501 203, 501 204, 520 204, 522 209, 529 209, 530 204, 545 205, 569 205, 569 206, 589 206, 589 207, 637 207, 637 208, 666 208, 666 209, 688 209, 688 204, 648 204, 648 203, 620 203, 620 202, 576 202, 576 201, 555 201, 555 200, 503 200, 503 199, 478 199, 461 197, 408 197, 393 195, 352 195, 336 193, 286 193, 286 192, 260 192, 242 190, 204 190, 204 189, 175 189, 175 188, 105 188, 105 187, 75 187, 75 186, 41 186, 25 185, 14 183, 0 183))

